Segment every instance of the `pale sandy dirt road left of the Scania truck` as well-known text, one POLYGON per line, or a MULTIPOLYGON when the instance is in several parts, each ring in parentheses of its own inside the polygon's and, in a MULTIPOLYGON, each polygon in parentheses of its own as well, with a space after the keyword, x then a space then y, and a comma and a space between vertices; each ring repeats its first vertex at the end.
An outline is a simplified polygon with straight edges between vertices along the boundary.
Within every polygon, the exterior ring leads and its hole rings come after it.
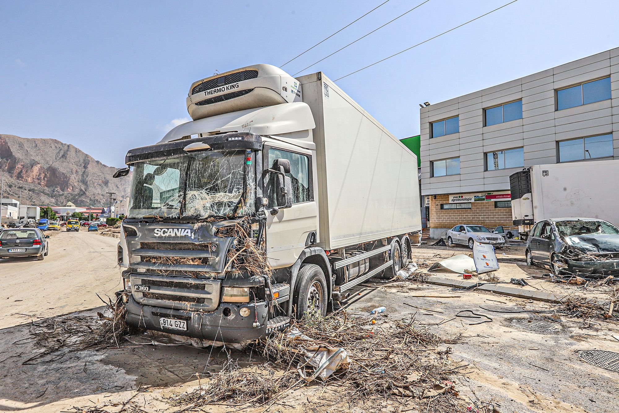
POLYGON ((46 231, 50 252, 34 257, 0 259, 0 329, 103 303, 97 297, 119 290, 118 239, 86 229, 46 231))

